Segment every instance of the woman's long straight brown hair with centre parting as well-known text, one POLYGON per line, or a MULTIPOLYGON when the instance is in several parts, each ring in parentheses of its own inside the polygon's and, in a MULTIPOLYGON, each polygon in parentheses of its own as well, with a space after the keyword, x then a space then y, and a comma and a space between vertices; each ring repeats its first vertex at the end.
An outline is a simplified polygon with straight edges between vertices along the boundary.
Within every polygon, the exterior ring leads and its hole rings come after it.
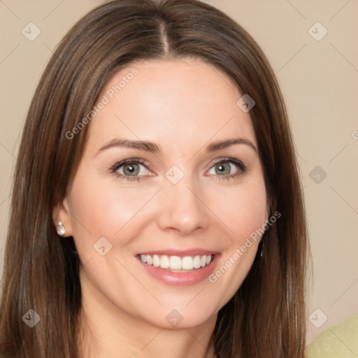
POLYGON ((52 208, 66 196, 103 85, 131 62, 192 57, 213 64, 255 100, 250 117, 271 213, 243 285, 218 313, 217 358, 298 358, 306 342, 306 217, 285 103, 268 61, 234 20, 196 0, 115 0, 64 37, 38 84, 13 181, 3 270, 0 355, 76 358, 81 289, 73 238, 59 238, 52 208), (67 134, 67 135, 66 135, 67 134), (71 135, 72 137, 72 135, 71 135), (41 317, 29 328, 22 317, 41 317))

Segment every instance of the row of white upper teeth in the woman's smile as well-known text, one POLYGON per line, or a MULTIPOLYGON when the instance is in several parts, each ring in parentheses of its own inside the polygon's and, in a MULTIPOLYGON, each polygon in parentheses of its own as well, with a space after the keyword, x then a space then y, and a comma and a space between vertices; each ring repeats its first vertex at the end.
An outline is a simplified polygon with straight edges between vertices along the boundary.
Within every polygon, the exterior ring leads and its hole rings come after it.
POLYGON ((213 261, 214 255, 192 256, 160 256, 160 255, 140 255, 141 261, 155 267, 169 268, 170 270, 192 270, 201 268, 213 261))

